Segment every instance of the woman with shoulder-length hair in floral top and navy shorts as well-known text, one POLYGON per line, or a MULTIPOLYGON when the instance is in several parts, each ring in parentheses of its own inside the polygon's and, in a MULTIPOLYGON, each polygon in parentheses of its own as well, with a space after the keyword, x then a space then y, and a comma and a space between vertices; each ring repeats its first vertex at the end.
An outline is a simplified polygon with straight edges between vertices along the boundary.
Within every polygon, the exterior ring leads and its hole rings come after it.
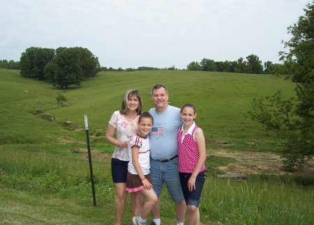
MULTIPOLYGON (((107 127, 106 139, 112 143, 114 153, 111 160, 112 180, 116 187, 116 224, 121 225, 126 208, 126 175, 128 173, 128 141, 137 131, 137 122, 142 113, 140 92, 131 89, 124 95, 121 110, 114 111, 107 127)), ((144 201, 144 196, 143 196, 144 201)), ((130 197, 133 216, 135 212, 135 195, 130 197)))

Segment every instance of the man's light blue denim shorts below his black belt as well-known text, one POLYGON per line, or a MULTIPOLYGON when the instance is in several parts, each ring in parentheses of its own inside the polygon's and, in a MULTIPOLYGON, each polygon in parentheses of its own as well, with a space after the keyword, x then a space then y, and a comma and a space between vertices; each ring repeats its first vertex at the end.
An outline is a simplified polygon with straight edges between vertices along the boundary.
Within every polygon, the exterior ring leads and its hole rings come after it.
POLYGON ((157 196, 160 196, 161 189, 165 183, 173 201, 184 200, 179 179, 178 157, 169 162, 158 162, 151 158, 151 183, 157 196))

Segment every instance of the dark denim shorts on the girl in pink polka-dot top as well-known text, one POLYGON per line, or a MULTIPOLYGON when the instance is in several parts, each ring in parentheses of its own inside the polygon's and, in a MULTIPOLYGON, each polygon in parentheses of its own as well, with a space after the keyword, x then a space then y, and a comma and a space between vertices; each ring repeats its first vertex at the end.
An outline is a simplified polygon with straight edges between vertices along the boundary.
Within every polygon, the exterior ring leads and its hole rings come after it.
POLYGON ((200 195, 205 182, 205 171, 198 173, 195 179, 195 189, 192 192, 188 190, 188 179, 190 179, 191 175, 192 173, 179 173, 181 188, 184 193, 186 205, 195 205, 198 207, 198 205, 200 205, 200 195))

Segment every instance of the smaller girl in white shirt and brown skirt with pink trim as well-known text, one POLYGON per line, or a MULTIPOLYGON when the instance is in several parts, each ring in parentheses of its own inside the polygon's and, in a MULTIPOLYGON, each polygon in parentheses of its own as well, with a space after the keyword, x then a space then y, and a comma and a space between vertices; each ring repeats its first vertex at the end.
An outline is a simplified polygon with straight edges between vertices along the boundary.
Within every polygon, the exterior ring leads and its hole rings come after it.
POLYGON ((148 112, 140 115, 137 124, 137 133, 130 139, 128 146, 128 175, 126 176, 126 192, 134 193, 135 218, 133 224, 146 224, 146 218, 157 202, 157 195, 152 189, 151 176, 149 174, 149 137, 153 127, 153 117, 148 112), (147 201, 142 205, 141 196, 147 201))

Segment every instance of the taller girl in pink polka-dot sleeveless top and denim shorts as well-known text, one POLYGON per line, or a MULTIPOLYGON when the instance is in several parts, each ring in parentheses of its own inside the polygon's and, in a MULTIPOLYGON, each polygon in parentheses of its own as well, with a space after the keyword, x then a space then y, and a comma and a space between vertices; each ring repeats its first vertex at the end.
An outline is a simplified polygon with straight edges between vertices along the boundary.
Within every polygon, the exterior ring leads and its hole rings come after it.
POLYGON ((202 129, 195 125, 196 111, 193 104, 181 107, 181 120, 177 141, 179 146, 179 176, 184 199, 188 205, 187 225, 200 224, 200 195, 205 181, 205 139, 202 129))

